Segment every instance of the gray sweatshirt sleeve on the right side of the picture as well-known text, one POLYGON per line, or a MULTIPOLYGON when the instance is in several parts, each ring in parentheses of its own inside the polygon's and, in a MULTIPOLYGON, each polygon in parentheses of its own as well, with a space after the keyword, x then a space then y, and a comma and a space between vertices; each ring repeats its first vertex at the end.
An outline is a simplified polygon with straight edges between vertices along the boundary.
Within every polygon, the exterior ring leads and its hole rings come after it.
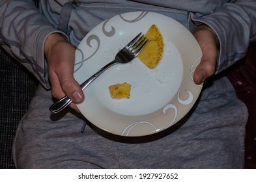
POLYGON ((216 73, 246 56, 250 42, 256 41, 256 1, 226 3, 214 14, 193 19, 211 27, 220 40, 216 73))

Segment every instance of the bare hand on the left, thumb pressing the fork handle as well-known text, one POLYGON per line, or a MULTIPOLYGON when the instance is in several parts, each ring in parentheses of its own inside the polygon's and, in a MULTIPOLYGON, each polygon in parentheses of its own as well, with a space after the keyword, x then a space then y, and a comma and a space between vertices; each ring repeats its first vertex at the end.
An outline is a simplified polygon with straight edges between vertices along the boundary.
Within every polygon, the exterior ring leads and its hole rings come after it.
POLYGON ((50 34, 44 45, 53 97, 61 99, 65 95, 68 96, 73 102, 70 107, 79 112, 74 103, 81 103, 84 95, 73 77, 75 51, 76 47, 58 33, 50 34))

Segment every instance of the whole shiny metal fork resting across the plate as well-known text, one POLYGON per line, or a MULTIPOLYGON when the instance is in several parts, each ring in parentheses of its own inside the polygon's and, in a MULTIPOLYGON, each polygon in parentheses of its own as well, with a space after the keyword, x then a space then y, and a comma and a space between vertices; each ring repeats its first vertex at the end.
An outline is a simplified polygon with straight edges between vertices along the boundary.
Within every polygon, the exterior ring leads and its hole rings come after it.
MULTIPOLYGON (((94 75, 92 75, 91 77, 89 77, 89 79, 83 82, 80 85, 82 90, 84 90, 92 81, 94 81, 96 77, 98 77, 101 73, 107 70, 107 68, 113 66, 114 64, 123 64, 132 61, 141 52, 147 42, 147 38, 145 38, 144 35, 141 36, 140 32, 131 42, 129 42, 124 48, 122 48, 121 51, 117 53, 117 55, 115 55, 115 59, 113 61, 109 62, 109 64, 106 64, 106 66, 98 70, 98 72, 94 73, 94 75)), ((68 98, 68 96, 64 96, 64 98, 51 105, 50 111, 52 113, 61 112, 61 110, 70 105, 70 103, 72 103, 72 100, 68 98)))

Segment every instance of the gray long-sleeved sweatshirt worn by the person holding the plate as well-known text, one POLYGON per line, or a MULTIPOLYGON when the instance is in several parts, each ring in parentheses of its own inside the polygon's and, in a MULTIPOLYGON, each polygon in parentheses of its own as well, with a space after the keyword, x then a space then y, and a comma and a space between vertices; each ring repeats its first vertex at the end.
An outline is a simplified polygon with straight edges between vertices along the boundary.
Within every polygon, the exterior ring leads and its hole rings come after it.
POLYGON ((255 0, 41 0, 39 9, 33 0, 1 0, 0 44, 50 88, 44 59, 49 34, 63 33, 77 46, 104 19, 139 10, 174 18, 190 31, 202 23, 211 27, 220 40, 216 73, 244 57, 256 40, 255 0), (72 6, 70 12, 65 3, 72 6))

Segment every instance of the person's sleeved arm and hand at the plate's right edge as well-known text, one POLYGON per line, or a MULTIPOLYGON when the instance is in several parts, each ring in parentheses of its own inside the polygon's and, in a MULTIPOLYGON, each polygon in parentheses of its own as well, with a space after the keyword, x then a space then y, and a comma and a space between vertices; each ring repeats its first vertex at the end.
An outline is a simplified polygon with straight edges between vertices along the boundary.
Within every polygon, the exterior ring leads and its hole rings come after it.
POLYGON ((227 3, 214 14, 193 21, 201 25, 193 32, 203 50, 201 64, 194 73, 195 82, 201 83, 213 73, 225 70, 246 56, 249 43, 256 40, 256 1, 227 3), (206 34, 207 31, 208 38, 201 36, 201 33, 206 34), (218 46, 220 49, 216 55, 218 46))

